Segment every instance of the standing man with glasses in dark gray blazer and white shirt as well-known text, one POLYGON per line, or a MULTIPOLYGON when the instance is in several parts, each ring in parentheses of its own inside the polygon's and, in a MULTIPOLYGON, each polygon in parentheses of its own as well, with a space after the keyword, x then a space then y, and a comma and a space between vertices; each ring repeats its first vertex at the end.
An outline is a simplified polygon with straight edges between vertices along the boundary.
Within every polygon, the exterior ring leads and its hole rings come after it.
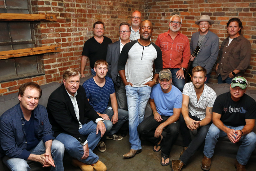
POLYGON ((130 42, 131 27, 128 22, 122 22, 119 25, 119 35, 120 39, 117 42, 108 45, 106 61, 108 62, 108 73, 115 84, 118 108, 128 110, 125 87, 117 69, 118 59, 122 48, 126 43, 130 42))

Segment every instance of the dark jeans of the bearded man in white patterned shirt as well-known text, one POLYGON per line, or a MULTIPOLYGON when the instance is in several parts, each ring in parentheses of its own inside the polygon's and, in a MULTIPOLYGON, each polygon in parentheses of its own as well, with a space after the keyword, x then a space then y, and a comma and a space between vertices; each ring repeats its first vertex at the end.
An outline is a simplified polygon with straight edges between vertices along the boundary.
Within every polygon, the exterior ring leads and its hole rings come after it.
MULTIPOLYGON (((190 112, 189 112, 189 117, 194 119, 195 121, 200 121, 200 119, 197 118, 196 116, 191 116, 190 112)), ((192 140, 190 136, 190 129, 186 126, 186 123, 182 114, 180 115, 179 121, 180 121, 180 129, 181 129, 181 135, 183 138, 183 143, 185 147, 188 147, 183 153, 183 155, 181 156, 181 158, 179 158, 179 160, 181 160, 181 162, 183 162, 186 165, 190 157, 193 156, 195 151, 199 149, 200 145, 203 144, 203 141, 207 135, 207 132, 209 127, 211 126, 211 123, 198 128, 197 134, 192 140)))

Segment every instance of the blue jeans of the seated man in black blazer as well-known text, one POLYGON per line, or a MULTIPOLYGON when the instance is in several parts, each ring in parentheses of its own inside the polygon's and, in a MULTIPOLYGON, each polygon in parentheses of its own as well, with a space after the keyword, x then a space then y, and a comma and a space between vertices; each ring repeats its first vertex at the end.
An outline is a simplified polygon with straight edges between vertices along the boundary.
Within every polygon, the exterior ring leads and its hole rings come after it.
POLYGON ((88 158, 81 159, 84 155, 84 149, 81 143, 74 137, 66 133, 60 133, 56 140, 61 141, 64 144, 65 150, 67 153, 71 155, 73 158, 77 158, 80 162, 86 164, 94 164, 99 160, 99 157, 93 153, 93 149, 97 146, 98 142, 101 139, 101 132, 96 134, 97 124, 93 121, 85 123, 81 129, 78 131, 83 136, 88 136, 88 147, 89 147, 89 156, 88 158))

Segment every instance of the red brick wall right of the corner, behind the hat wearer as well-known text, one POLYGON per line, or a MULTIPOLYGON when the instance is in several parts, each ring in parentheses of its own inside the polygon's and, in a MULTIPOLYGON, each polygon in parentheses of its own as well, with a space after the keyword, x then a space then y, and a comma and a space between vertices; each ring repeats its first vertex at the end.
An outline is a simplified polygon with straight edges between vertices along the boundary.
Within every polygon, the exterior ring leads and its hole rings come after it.
MULTIPOLYGON (((252 44, 251 63, 244 76, 249 87, 256 89, 256 0, 146 0, 145 13, 145 18, 154 25, 153 42, 168 30, 168 21, 174 14, 182 17, 181 33, 189 39, 198 31, 194 22, 203 14, 209 15, 215 21, 210 30, 219 36, 220 45, 228 36, 228 20, 239 18, 243 22, 242 34, 252 44)), ((215 70, 210 82, 217 83, 215 70)))

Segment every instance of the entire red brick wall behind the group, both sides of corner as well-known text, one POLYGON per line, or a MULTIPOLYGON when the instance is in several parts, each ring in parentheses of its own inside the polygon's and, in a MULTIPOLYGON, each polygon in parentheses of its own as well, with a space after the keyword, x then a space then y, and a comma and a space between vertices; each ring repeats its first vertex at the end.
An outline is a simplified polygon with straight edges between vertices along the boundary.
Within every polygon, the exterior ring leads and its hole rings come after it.
MULTIPOLYGON (((43 55, 45 75, 0 83, 0 96, 18 92, 19 85, 35 81, 40 85, 61 82, 61 75, 68 68, 80 68, 84 42, 93 36, 93 23, 105 23, 105 34, 115 42, 118 26, 129 22, 134 10, 140 10, 154 25, 152 41, 168 30, 168 20, 173 14, 183 18, 181 32, 191 38, 198 31, 194 24, 201 15, 207 14, 215 24, 211 31, 220 37, 227 37, 226 23, 238 17, 243 22, 242 34, 252 44, 251 65, 246 71, 250 88, 256 89, 256 2, 255 0, 31 0, 33 13, 56 14, 57 22, 37 22, 35 38, 37 46, 61 44, 61 53, 43 55)), ((220 43, 221 43, 220 42, 220 43)), ((87 64, 85 74, 90 74, 87 64)), ((210 82, 216 83, 212 72, 210 82)))

